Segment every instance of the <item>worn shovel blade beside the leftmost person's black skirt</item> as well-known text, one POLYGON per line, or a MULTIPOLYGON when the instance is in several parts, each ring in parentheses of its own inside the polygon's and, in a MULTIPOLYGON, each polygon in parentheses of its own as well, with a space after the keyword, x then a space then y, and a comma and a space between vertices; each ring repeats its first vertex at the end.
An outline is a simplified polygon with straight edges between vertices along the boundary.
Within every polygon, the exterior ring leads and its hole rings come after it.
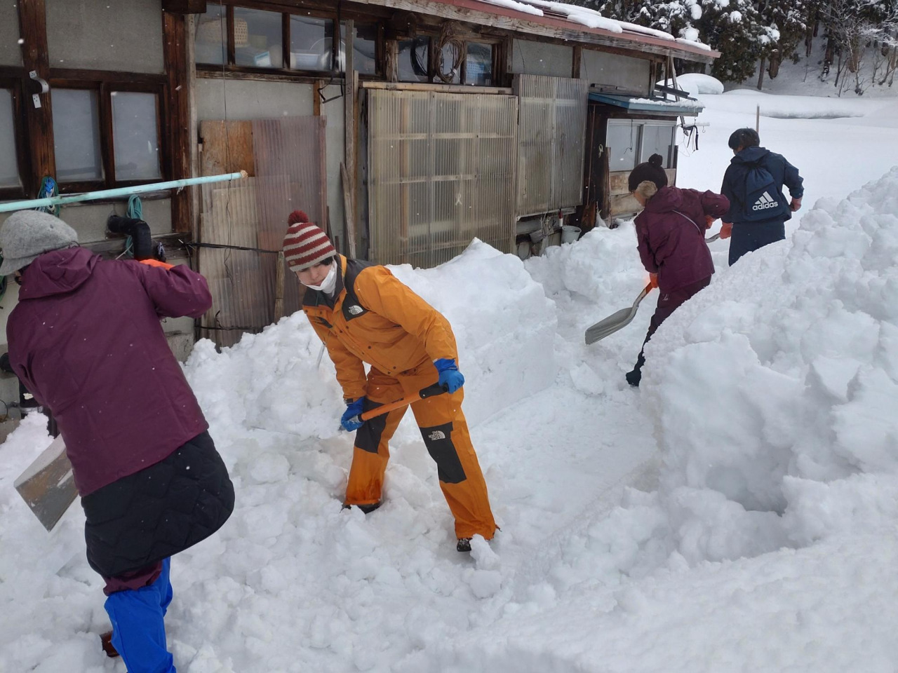
POLYGON ((13 486, 43 527, 52 530, 78 496, 61 436, 34 459, 13 486))

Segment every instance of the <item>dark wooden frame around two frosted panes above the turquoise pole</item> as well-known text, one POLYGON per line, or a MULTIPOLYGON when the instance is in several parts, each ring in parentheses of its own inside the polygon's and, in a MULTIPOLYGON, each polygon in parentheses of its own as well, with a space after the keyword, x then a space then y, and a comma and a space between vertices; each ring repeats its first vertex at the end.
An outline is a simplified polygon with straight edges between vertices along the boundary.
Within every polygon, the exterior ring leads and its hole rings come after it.
MULTIPOLYGON (((100 160, 102 179, 63 182, 57 179, 60 194, 79 193, 96 189, 111 189, 147 185, 171 176, 168 139, 163 133, 163 118, 168 118, 166 85, 161 77, 91 71, 50 71, 50 95, 55 89, 74 89, 97 92, 98 124, 100 132, 100 160), (61 76, 60 76, 61 75, 61 76), (81 76, 78 76, 81 75, 81 76), (112 118, 112 92, 153 93, 156 97, 156 138, 159 146, 159 178, 119 180, 115 177, 115 135, 112 118)), ((56 171, 54 170, 54 174, 56 171)))

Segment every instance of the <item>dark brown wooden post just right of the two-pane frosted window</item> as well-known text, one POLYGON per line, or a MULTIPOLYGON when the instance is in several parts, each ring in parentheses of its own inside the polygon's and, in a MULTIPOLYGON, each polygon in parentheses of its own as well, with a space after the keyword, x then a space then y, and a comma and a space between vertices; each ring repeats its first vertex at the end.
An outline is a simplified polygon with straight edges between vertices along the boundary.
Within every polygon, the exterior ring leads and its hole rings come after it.
MULTIPOLYGON (((190 87, 187 63, 187 17, 163 12, 163 58, 168 78, 168 114, 163 123, 163 144, 168 154, 170 179, 190 177, 190 87)), ((193 231, 193 203, 189 189, 172 194, 172 231, 193 231)))

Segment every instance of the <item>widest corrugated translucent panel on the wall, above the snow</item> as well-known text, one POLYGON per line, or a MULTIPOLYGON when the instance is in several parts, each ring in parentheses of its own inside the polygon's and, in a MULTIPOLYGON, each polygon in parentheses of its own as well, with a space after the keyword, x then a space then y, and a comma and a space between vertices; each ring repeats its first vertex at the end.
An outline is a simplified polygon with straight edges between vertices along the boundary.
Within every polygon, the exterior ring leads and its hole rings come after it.
POLYGON ((435 267, 515 240, 517 99, 368 92, 369 258, 435 267))

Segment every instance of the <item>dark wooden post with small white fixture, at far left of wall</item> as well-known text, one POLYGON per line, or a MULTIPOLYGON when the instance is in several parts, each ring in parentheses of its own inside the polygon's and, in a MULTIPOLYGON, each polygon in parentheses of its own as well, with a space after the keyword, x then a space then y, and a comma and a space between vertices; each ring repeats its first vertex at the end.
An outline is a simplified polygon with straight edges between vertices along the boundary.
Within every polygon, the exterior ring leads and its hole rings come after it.
MULTIPOLYGON (((19 34, 22 36, 22 65, 25 72, 34 71, 49 80, 50 67, 47 45, 47 11, 44 0, 19 0, 19 34)), ((37 194, 40 180, 45 176, 56 177, 56 153, 53 148, 53 109, 50 97, 39 93, 40 86, 26 84, 22 106, 27 110, 29 143, 31 144, 31 175, 25 191, 37 194), (32 96, 37 96, 40 107, 35 107, 32 96)))

